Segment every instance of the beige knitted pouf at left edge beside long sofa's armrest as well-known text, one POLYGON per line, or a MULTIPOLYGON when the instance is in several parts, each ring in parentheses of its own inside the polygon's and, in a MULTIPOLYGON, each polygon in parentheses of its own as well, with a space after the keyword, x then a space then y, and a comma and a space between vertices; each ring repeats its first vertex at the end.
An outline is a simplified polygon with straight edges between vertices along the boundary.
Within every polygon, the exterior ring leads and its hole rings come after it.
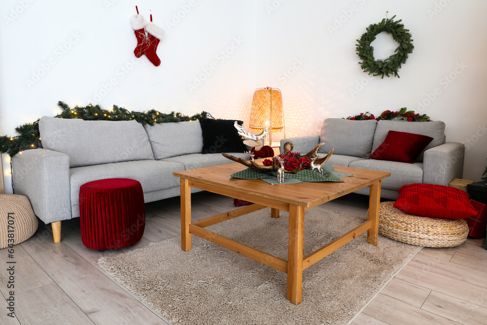
POLYGON ((29 239, 37 226, 37 217, 27 197, 0 194, 0 249, 29 239), (13 243, 8 241, 9 238, 13 239, 13 243))

